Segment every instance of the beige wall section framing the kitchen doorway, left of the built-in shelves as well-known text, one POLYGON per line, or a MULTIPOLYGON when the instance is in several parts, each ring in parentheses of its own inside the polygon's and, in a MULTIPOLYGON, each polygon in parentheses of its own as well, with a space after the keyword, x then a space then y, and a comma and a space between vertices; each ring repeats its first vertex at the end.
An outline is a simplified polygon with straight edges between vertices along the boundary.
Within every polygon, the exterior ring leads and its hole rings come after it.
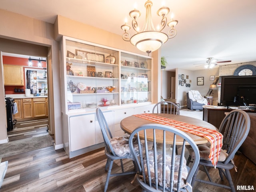
MULTIPOLYGON (((51 128, 56 132, 55 143, 62 144, 62 124, 60 113, 60 70, 59 70, 59 48, 54 40, 54 26, 52 24, 35 20, 20 14, 0 10, 0 38, 4 44, 0 44, 1 52, 16 54, 47 56, 48 50, 52 51, 52 74, 49 76, 50 118, 51 128), (12 40, 12 41, 10 41, 12 40)), ((1 62, 2 63, 2 62, 1 62)), ((2 77, 2 65, 0 69, 2 77)), ((0 122, 6 122, 4 107, 4 81, 0 78, 0 122), (4 114, 4 115, 3 115, 4 114)), ((0 124, 0 143, 7 142, 6 124, 0 124)))

